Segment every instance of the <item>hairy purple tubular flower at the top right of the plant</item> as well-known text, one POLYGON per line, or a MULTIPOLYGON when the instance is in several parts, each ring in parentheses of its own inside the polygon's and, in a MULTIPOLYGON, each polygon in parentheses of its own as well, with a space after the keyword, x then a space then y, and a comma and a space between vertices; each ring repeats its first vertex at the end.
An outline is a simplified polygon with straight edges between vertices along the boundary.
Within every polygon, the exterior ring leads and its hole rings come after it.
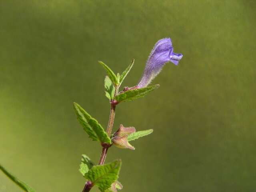
POLYGON ((164 64, 172 62, 178 65, 179 60, 182 58, 182 54, 174 53, 172 47, 172 40, 170 38, 160 39, 151 51, 144 74, 138 83, 138 88, 148 86, 150 82, 160 73, 164 64))

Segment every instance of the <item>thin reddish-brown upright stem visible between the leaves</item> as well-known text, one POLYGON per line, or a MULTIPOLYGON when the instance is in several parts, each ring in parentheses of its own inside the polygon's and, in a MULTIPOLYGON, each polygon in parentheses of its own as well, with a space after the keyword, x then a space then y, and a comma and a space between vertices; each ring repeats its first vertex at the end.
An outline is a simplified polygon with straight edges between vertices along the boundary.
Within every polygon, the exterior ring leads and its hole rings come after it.
MULTIPOLYGON (((114 96, 116 96, 118 94, 118 89, 119 86, 116 86, 116 90, 115 90, 115 94, 114 96)), ((112 132, 112 128, 114 125, 114 120, 115 120, 115 114, 116 114, 116 105, 115 104, 110 104, 110 115, 109 115, 109 120, 108 120, 108 127, 107 127, 107 134, 110 137, 111 132, 112 132)), ((108 148, 110 148, 111 145, 109 144, 102 144, 102 152, 101 152, 101 156, 100 156, 100 160, 98 165, 103 165, 105 162, 105 159, 107 157, 107 152, 108 152, 108 148)), ((87 181, 84 189, 82 192, 89 192, 91 190, 91 188, 93 187, 93 184, 91 181, 87 181)))

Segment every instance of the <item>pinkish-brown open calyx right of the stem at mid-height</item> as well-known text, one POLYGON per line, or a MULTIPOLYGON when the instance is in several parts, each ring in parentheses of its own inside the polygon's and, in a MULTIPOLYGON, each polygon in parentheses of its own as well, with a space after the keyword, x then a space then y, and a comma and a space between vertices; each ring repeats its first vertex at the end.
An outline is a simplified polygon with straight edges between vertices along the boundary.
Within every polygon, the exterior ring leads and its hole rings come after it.
POLYGON ((134 150, 135 148, 128 142, 128 135, 134 133, 134 127, 124 127, 122 124, 119 129, 114 133, 112 142, 119 148, 128 148, 134 150))

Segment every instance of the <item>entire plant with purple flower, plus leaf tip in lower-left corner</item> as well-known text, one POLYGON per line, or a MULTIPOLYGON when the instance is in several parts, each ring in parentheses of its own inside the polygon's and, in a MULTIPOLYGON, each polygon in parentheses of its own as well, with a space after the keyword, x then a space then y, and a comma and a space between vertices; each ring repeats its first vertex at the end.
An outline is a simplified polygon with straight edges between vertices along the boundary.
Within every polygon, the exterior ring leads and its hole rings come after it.
MULTIPOLYGON (((130 72, 134 64, 134 59, 121 75, 119 73, 115 74, 106 64, 99 61, 107 73, 104 80, 104 87, 105 95, 110 102, 110 117, 106 131, 95 118, 90 116, 86 110, 74 102, 74 110, 76 112, 78 122, 83 126, 84 131, 88 134, 89 138, 93 141, 100 142, 102 146, 102 153, 97 165, 94 165, 88 156, 85 154, 82 155, 79 171, 83 177, 86 178, 86 184, 83 192, 89 192, 93 186, 98 186, 101 192, 116 192, 117 189, 122 189, 122 184, 118 181, 118 174, 122 164, 121 160, 114 160, 113 162, 104 164, 109 148, 115 145, 119 148, 134 150, 135 148, 129 142, 151 134, 153 130, 149 129, 136 132, 134 127, 124 127, 121 124, 119 129, 112 134, 116 106, 122 102, 144 97, 148 93, 157 89, 159 87, 158 84, 153 86, 148 86, 148 84, 150 84, 150 82, 160 73, 166 62, 170 61, 178 65, 181 58, 182 54, 176 54, 173 52, 170 38, 159 40, 148 58, 144 74, 142 75, 138 85, 133 87, 124 87, 120 92, 119 88, 127 74, 130 72)), ((30 186, 18 180, 4 167, 0 166, 0 169, 23 190, 27 192, 34 192, 30 186)))

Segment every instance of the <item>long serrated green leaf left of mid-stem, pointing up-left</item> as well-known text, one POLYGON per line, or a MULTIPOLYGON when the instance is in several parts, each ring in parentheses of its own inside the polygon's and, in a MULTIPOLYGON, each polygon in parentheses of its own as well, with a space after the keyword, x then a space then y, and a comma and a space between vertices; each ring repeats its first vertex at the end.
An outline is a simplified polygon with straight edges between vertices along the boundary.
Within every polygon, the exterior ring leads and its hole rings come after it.
POLYGON ((79 104, 75 102, 74 109, 78 121, 82 124, 84 130, 92 140, 99 140, 102 143, 111 144, 111 139, 96 119, 92 118, 79 104))

